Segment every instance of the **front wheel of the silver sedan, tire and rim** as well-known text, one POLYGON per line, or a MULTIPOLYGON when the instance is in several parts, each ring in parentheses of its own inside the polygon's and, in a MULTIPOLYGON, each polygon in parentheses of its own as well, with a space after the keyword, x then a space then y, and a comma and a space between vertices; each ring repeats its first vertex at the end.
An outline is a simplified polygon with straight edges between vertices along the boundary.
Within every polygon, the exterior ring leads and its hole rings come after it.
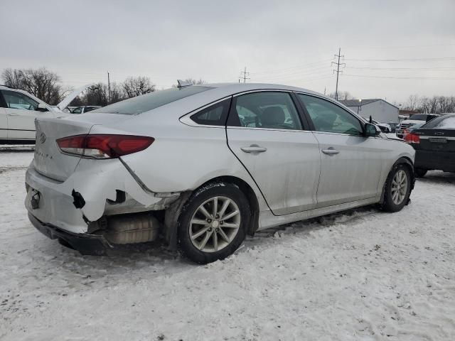
POLYGON ((411 182, 410 168, 404 163, 395 165, 387 176, 382 210, 398 212, 405 207, 411 194, 411 182))

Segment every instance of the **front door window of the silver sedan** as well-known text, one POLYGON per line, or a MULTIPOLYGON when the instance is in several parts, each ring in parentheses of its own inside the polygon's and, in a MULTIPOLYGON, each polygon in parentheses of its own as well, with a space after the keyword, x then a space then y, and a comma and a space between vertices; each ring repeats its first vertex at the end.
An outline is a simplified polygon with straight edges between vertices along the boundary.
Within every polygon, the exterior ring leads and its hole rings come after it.
POLYGON ((306 107, 316 131, 327 133, 363 135, 359 119, 326 99, 297 94, 306 107))

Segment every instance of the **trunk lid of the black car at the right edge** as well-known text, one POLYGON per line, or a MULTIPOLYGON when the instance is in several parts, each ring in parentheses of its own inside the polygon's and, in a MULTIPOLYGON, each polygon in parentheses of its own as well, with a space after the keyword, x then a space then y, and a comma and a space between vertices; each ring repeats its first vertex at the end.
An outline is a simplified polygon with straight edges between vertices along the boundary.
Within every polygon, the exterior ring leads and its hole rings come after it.
POLYGON ((414 129, 412 134, 420 137, 417 150, 455 152, 455 129, 414 129))

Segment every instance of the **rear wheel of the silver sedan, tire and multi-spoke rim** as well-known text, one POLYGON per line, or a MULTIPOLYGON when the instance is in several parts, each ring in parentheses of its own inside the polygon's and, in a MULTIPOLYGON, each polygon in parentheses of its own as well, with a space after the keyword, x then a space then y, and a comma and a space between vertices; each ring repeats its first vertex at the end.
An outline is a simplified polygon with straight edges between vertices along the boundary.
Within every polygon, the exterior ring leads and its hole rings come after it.
POLYGON ((178 247, 198 264, 225 259, 245 240, 250 215, 247 197, 236 185, 204 185, 191 195, 178 217, 178 247))

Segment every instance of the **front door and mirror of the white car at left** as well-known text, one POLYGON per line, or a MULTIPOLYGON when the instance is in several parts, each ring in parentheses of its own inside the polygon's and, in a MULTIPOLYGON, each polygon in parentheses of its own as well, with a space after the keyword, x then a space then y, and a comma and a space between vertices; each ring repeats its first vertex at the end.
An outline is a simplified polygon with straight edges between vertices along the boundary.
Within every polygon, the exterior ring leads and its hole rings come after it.
POLYGON ((54 117, 53 112, 39 112, 38 102, 12 90, 1 90, 6 102, 8 118, 8 139, 34 140, 35 119, 54 117))

